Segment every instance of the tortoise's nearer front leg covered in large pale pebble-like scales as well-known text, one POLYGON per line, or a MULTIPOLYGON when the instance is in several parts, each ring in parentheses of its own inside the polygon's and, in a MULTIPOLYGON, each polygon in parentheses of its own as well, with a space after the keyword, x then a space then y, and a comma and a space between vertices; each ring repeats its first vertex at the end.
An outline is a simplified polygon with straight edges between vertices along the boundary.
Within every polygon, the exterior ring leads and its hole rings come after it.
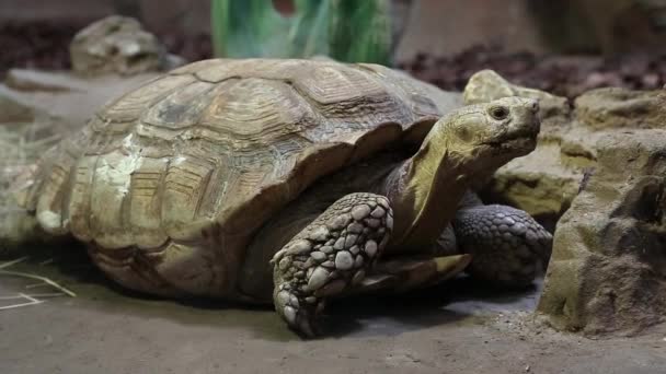
POLYGON ((389 200, 351 194, 335 201, 275 254, 273 301, 289 327, 312 337, 325 299, 358 284, 393 227, 389 200))

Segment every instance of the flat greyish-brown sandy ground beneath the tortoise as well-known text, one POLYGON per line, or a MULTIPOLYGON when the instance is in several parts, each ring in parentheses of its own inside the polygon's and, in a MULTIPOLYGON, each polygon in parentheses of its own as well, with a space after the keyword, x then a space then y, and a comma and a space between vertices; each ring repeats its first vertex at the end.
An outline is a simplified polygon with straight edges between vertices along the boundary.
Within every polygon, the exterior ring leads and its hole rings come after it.
MULTIPOLYGON (((666 327, 589 340, 529 318, 538 287, 481 291, 469 280, 403 297, 331 305, 329 336, 305 341, 269 308, 129 294, 82 257, 12 267, 77 297, 0 311, 0 373, 666 373, 666 327)), ((0 277, 0 296, 50 292, 0 277)), ((13 301, 1 301, 2 305, 13 301)))

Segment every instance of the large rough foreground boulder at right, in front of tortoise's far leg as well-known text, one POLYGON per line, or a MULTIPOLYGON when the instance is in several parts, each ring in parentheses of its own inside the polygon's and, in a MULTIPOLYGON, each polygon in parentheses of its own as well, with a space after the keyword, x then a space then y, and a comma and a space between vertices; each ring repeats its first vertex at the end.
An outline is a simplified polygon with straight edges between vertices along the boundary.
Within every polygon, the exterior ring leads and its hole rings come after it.
POLYGON ((666 131, 618 130, 596 148, 558 223, 538 312, 560 329, 636 334, 666 320, 666 131))

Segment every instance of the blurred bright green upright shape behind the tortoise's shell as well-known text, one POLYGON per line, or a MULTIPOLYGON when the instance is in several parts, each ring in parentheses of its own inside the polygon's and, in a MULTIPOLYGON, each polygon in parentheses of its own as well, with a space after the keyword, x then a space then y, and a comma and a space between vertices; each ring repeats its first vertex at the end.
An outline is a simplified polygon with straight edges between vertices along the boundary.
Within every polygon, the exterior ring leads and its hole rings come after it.
POLYGON ((389 65, 387 0, 294 0, 283 15, 268 0, 213 0, 219 57, 311 57, 389 65))

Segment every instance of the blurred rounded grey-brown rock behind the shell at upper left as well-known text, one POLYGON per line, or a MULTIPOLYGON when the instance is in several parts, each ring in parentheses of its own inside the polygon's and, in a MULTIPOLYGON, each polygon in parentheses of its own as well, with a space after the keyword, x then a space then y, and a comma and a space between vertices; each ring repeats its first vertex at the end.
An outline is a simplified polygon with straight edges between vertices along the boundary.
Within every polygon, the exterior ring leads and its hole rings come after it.
POLYGON ((107 16, 80 31, 70 45, 72 69, 82 75, 133 75, 181 63, 130 17, 107 16))

